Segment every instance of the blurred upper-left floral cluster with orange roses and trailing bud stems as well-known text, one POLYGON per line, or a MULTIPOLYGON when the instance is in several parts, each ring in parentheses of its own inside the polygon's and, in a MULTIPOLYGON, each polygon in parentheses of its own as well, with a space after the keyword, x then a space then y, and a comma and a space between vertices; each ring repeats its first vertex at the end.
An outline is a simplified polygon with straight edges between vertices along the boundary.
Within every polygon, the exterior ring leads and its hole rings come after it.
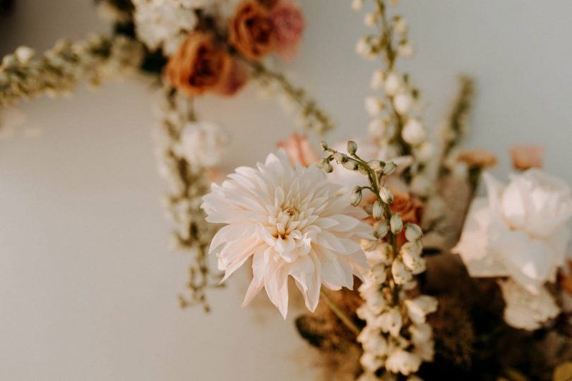
MULTIPOLYGON (((218 286, 218 274, 206 251, 216 229, 205 223, 199 205, 229 141, 216 123, 198 120, 193 98, 230 97, 252 81, 279 99, 302 127, 318 134, 333 128, 306 90, 263 61, 273 54, 294 58, 304 15, 287 0, 98 0, 97 8, 114 25, 113 35, 61 40, 41 57, 29 47, 4 57, 0 107, 69 95, 82 81, 97 87, 136 71, 158 75, 165 89, 157 160, 169 186, 165 205, 176 224, 171 246, 193 254, 190 298, 180 296, 181 306, 201 303, 208 310, 205 290, 218 286)), ((14 119, 10 111, 4 112, 5 125, 14 119)))

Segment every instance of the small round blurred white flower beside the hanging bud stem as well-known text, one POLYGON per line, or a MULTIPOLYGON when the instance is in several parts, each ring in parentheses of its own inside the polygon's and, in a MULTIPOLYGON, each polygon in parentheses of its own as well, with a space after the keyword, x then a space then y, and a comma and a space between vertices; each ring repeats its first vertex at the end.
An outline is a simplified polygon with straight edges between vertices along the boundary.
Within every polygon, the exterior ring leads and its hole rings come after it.
POLYGON ((180 154, 191 165, 215 167, 228 144, 222 128, 207 121, 186 123, 181 133, 180 154))

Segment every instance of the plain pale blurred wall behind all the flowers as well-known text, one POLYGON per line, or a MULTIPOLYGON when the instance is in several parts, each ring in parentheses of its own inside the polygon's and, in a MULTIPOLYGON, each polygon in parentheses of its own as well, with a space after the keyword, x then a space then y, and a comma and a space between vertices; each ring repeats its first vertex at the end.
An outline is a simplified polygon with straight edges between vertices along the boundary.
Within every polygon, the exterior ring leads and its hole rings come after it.
MULTIPOLYGON (((349 3, 302 1, 306 40, 287 66, 338 122, 330 141, 363 134, 368 122, 375 65, 354 55, 366 28, 349 3)), ((90 0, 15 5, 0 18, 2 54, 107 30, 90 0)), ((467 146, 496 153, 495 171, 506 175, 508 147, 544 145, 547 169, 572 183, 572 2, 403 0, 401 9, 427 125, 446 115, 456 76, 470 74, 467 146)), ((315 380, 296 313, 283 322, 263 301, 239 308, 240 276, 210 293, 210 315, 179 309, 188 258, 166 249, 154 87, 140 79, 22 104, 25 127, 0 141, 0 380, 315 380)), ((263 159, 292 131, 280 107, 250 88, 198 107, 232 135, 227 167, 263 159)))

